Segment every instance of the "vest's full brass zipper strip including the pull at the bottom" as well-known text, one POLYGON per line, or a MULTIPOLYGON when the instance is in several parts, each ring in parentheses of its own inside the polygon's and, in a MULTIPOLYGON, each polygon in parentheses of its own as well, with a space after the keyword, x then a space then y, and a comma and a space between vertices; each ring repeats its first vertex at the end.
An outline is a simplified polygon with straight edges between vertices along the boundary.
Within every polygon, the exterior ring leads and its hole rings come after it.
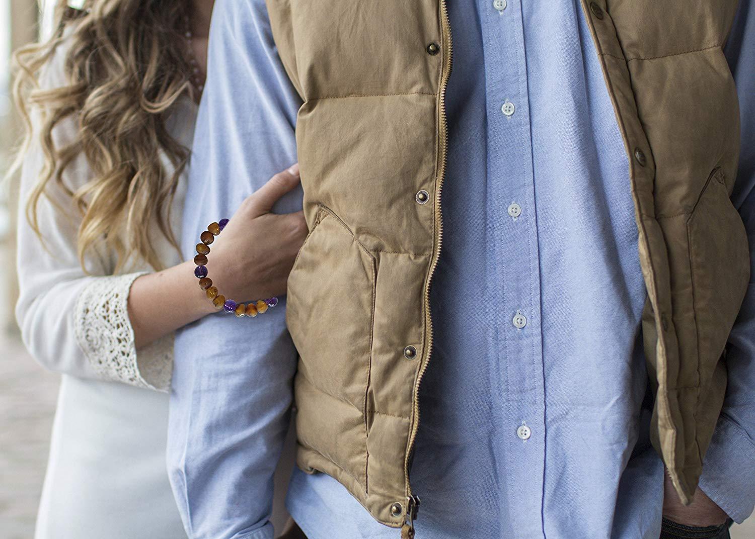
POLYGON ((427 338, 425 339, 424 358, 420 366, 420 372, 417 381, 414 383, 414 409, 412 417, 414 421, 411 424, 409 433, 409 444, 404 461, 404 479, 406 484, 406 515, 405 523, 401 528, 402 539, 414 539, 414 519, 417 518, 420 500, 417 496, 411 494, 411 485, 409 483, 409 466, 411 464, 411 455, 414 451, 414 440, 417 438, 417 430, 420 424, 420 406, 419 406, 419 388, 427 370, 427 364, 430 363, 430 352, 433 349, 433 320, 430 317, 430 283, 433 280, 435 269, 440 257, 440 248, 443 242, 443 221, 440 209, 440 197, 445 179, 445 161, 448 155, 448 119, 445 115, 445 88, 448 86, 448 78, 451 76, 451 65, 453 60, 453 42, 451 41, 451 21, 448 19, 448 8, 445 0, 440 0, 441 30, 443 34, 443 46, 445 55, 443 57, 443 66, 440 81, 439 92, 439 153, 438 153, 438 182, 435 193, 435 223, 436 223, 436 242, 433 246, 433 259, 430 262, 430 273, 427 275, 427 283, 424 289, 424 310, 425 310, 425 327, 427 328, 427 338))

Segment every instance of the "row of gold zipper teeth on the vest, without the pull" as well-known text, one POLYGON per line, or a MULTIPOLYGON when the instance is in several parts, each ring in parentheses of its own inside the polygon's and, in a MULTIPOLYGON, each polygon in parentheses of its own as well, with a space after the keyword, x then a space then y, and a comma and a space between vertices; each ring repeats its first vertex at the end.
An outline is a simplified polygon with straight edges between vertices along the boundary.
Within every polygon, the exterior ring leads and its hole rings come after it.
MULTIPOLYGON (((443 220, 442 220, 442 212, 440 209, 440 197, 441 197, 441 191, 443 187, 443 180, 445 179, 445 161, 448 157, 448 119, 445 116, 445 88, 448 85, 448 78, 451 77, 451 65, 453 60, 453 42, 451 41, 451 21, 448 19, 448 8, 445 5, 445 0, 440 1, 440 11, 441 11, 441 17, 442 17, 442 30, 443 30, 443 37, 445 38, 445 44, 446 44, 446 50, 448 51, 448 54, 445 57, 445 65, 443 66, 443 69, 445 71, 444 75, 442 75, 442 81, 440 84, 440 95, 439 95, 439 107, 440 107, 440 116, 441 116, 441 136, 442 136, 442 157, 440 158, 440 164, 439 164, 439 176, 438 176, 438 186, 436 188, 436 201, 435 201, 435 218, 436 222, 438 223, 438 233, 436 235, 438 241, 436 244, 436 249, 433 253, 433 261, 430 263, 430 274, 427 276, 427 283, 425 285, 424 289, 424 308, 425 308, 425 326, 427 327, 427 339, 425 340, 425 358, 424 363, 422 363, 422 366, 420 367, 420 372, 417 377, 417 381, 414 384, 414 422, 411 425, 411 433, 409 435, 409 445, 406 452, 406 458, 404 463, 404 475, 405 475, 405 482, 406 482, 406 497, 407 501, 408 498, 411 498, 411 485, 409 484, 409 455, 411 455, 412 450, 414 449, 414 440, 417 438, 417 431, 419 429, 419 423, 420 423, 420 407, 419 407, 419 387, 420 383, 422 381, 422 377, 424 376, 425 371, 427 370, 427 364, 430 363, 430 351, 432 351, 433 348, 433 320, 430 316, 430 283, 433 280, 433 275, 435 274, 436 267, 438 266, 438 260, 440 258, 440 249, 443 243, 443 220)), ((407 503, 408 507, 408 503, 407 503)))

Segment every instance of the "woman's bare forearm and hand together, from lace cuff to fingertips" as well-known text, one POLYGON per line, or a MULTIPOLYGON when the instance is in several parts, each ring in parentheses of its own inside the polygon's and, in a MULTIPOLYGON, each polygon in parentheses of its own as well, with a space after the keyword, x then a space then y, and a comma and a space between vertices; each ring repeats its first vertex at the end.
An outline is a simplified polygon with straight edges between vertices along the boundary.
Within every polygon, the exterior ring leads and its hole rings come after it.
MULTIPOLYGON (((209 275, 227 299, 247 302, 285 294, 288 272, 307 237, 307 223, 302 212, 276 215, 270 210, 298 183, 298 165, 273 176, 242 203, 211 243, 209 275)), ((187 260, 134 280, 128 316, 137 348, 216 311, 199 288, 194 268, 187 260)))

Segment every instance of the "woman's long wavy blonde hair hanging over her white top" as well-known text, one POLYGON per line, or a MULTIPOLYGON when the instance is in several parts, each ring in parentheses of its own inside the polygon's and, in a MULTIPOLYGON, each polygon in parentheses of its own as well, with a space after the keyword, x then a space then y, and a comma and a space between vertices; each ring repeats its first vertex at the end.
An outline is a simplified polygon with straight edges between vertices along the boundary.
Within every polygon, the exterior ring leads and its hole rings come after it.
POLYGON ((168 133, 165 120, 181 96, 193 97, 183 37, 187 5, 189 0, 87 0, 77 10, 63 0, 54 35, 14 56, 14 98, 26 125, 15 168, 35 139, 45 157, 26 216, 42 237, 39 200, 51 182, 63 188, 82 214, 77 248, 85 271, 86 254, 99 246, 116 253, 116 272, 131 256, 161 269, 149 234, 155 223, 177 249, 170 208, 189 152, 168 133), (45 67, 63 42, 66 84, 42 87, 45 67), (32 112, 40 115, 36 128, 32 112), (56 147, 53 130, 69 117, 76 121, 75 139, 56 147), (92 179, 72 190, 63 172, 81 154, 92 179), (163 166, 165 158, 171 170, 163 166))

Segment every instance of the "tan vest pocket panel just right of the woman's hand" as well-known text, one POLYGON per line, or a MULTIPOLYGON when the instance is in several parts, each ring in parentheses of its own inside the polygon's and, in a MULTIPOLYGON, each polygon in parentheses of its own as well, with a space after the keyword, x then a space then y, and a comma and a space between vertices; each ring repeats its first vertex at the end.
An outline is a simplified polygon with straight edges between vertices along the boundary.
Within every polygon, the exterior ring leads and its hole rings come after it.
POLYGON ((288 277, 286 320, 299 353, 297 433, 302 446, 362 485, 376 277, 372 253, 321 207, 288 277))

